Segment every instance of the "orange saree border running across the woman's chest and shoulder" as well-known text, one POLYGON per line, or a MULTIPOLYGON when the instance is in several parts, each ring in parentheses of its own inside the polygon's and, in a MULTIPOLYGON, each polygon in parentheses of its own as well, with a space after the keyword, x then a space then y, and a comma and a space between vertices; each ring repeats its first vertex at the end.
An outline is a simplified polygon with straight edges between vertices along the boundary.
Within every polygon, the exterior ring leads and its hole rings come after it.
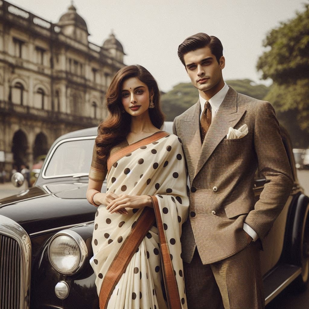
POLYGON ((143 138, 141 140, 139 140, 138 142, 135 142, 129 146, 126 146, 124 148, 122 148, 121 150, 115 152, 114 154, 112 154, 108 160, 107 160, 107 171, 109 172, 112 165, 117 162, 119 159, 123 158, 125 155, 133 152, 134 150, 137 150, 138 148, 140 148, 141 146, 153 143, 155 141, 157 141, 160 138, 163 138, 167 135, 171 135, 171 133, 167 133, 165 131, 158 131, 146 138, 143 138))

